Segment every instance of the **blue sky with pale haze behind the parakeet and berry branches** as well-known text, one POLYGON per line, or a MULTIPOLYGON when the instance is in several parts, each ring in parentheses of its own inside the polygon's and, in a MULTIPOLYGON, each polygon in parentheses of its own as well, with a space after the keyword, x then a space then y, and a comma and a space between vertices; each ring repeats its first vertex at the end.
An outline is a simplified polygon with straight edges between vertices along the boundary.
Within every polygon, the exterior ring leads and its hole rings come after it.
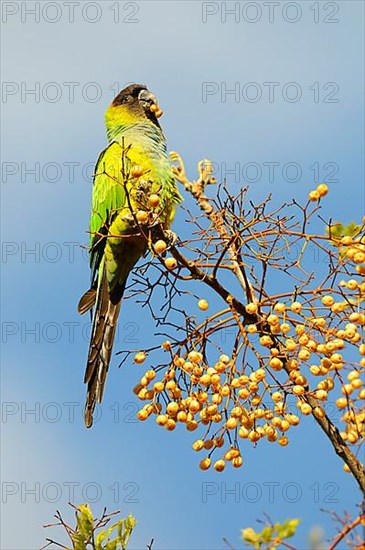
MULTIPOLYGON (((242 470, 203 475, 194 436, 134 421, 141 368, 118 370, 114 357, 101 418, 84 429, 88 322, 76 304, 89 273, 79 244, 87 243, 90 166, 106 143, 104 110, 132 81, 158 96, 168 148, 191 177, 210 158, 232 191, 249 183, 253 199, 272 192, 278 203, 331 178, 326 215, 358 220, 363 4, 280 2, 270 19, 262 2, 80 2, 73 22, 65 3, 51 4, 2 3, 1 547, 38 548, 42 524, 86 495, 96 511, 137 516, 132 549, 152 537, 156 550, 218 549, 222 537, 239 548, 240 528, 263 512, 301 517, 305 548, 313 526, 331 533, 320 508, 352 511, 359 500, 310 419, 287 448, 247 447, 242 470)), ((184 220, 179 213, 182 235, 184 220)), ((153 332, 128 300, 115 351, 153 345, 153 332)))

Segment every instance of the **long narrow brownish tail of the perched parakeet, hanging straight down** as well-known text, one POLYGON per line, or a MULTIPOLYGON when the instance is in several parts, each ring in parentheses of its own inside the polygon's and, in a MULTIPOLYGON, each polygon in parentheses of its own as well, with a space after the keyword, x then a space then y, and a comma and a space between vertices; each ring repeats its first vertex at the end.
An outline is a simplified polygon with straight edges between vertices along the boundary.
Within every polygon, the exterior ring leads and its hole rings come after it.
POLYGON ((87 384, 84 420, 87 428, 93 423, 96 403, 101 403, 113 349, 120 302, 110 301, 108 283, 103 268, 102 279, 96 296, 96 308, 84 382, 87 384))

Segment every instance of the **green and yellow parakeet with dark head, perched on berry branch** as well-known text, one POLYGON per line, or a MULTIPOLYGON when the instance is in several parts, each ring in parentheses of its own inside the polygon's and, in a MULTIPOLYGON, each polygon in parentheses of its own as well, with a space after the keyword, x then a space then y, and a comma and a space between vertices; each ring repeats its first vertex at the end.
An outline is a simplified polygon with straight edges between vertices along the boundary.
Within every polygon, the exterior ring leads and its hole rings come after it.
POLYGON ((88 428, 103 397, 128 275, 148 249, 149 227, 160 223, 168 229, 182 200, 158 122, 161 114, 156 97, 141 84, 122 90, 106 111, 109 146, 96 163, 92 193, 91 288, 78 306, 81 314, 94 308, 84 379, 88 428))

